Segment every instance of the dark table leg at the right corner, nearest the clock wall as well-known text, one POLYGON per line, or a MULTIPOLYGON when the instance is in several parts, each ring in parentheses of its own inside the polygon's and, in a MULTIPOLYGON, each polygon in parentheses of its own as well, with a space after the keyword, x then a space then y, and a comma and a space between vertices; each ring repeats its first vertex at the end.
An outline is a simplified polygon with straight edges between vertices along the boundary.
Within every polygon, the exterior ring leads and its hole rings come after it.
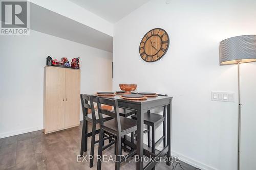
POLYGON ((167 105, 167 145, 168 145, 168 152, 167 158, 168 161, 166 164, 170 166, 171 162, 171 151, 172 151, 172 100, 170 100, 170 104, 167 105))

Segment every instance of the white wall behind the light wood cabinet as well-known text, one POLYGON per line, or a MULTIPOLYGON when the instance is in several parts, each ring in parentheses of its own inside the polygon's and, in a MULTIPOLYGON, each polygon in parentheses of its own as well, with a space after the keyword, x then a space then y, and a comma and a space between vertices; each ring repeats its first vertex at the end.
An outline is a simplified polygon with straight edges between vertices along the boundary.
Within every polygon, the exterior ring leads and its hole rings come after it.
POLYGON ((46 57, 80 57, 81 93, 112 89, 112 53, 32 31, 0 36, 0 138, 43 128, 46 57))

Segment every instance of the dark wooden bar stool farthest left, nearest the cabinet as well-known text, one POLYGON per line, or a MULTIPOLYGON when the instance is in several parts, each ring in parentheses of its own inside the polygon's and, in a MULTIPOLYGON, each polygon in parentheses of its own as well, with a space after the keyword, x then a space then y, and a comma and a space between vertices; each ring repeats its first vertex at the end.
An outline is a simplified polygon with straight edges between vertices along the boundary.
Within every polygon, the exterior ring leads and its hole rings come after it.
MULTIPOLYGON (((90 167, 93 167, 93 160, 94 160, 94 145, 99 141, 95 141, 95 135, 99 133, 99 129, 96 130, 96 125, 99 124, 99 116, 95 114, 94 104, 93 104, 93 96, 80 94, 81 105, 82 105, 82 113, 83 113, 83 126, 82 126, 82 139, 81 139, 81 151, 80 156, 83 156, 83 152, 87 152, 87 139, 88 137, 92 137, 91 140, 91 153, 90 155, 92 158, 90 159, 90 167), (90 104, 88 104, 90 102, 90 104), (88 114, 88 109, 91 109, 92 114, 88 114), (88 122, 93 124, 92 132, 88 133, 88 122)), ((104 116, 103 122, 113 119, 112 116, 104 116)), ((104 140, 109 139, 109 144, 106 148, 110 147, 112 144, 115 143, 114 135, 111 135, 108 132, 104 132, 104 140), (111 139, 112 138, 112 139, 111 139)))

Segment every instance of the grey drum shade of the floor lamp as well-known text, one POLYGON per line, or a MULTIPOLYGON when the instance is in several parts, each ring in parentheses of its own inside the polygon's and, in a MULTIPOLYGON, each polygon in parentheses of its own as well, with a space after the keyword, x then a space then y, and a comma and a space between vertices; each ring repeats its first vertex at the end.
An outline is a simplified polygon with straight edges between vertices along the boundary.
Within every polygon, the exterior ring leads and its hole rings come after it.
POLYGON ((220 42, 220 64, 256 61, 256 35, 231 37, 220 42))

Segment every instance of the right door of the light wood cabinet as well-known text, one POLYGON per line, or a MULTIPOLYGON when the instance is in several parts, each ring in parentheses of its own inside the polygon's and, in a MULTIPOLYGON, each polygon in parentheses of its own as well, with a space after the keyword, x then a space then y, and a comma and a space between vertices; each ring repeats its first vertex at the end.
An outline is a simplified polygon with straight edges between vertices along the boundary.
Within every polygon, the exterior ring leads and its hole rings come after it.
POLYGON ((80 70, 66 69, 65 128, 80 124, 80 70))

